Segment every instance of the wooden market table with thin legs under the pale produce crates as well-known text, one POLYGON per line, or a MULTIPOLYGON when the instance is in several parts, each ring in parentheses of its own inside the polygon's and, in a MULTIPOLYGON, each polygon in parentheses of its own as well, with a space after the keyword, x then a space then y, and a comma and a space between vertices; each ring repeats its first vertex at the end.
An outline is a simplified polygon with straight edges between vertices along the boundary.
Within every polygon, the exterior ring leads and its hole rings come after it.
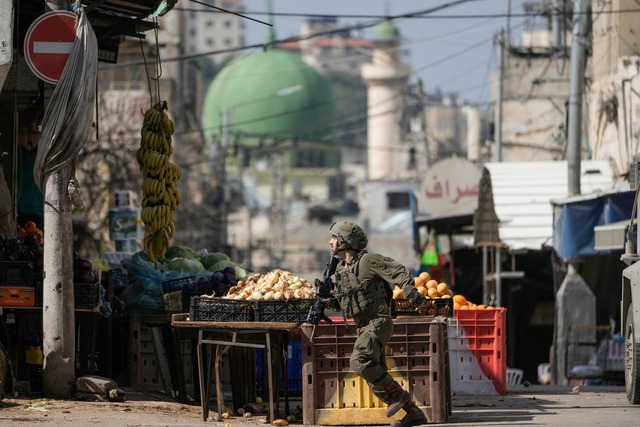
MULTIPOLYGON (((299 331, 299 323, 288 322, 201 322, 188 320, 188 313, 173 314, 171 326, 178 330, 191 330, 198 333, 198 377, 200 383, 200 401, 202 404, 202 418, 207 420, 209 415, 209 397, 211 395, 211 376, 216 376, 216 398, 218 412, 222 414, 224 395, 220 381, 220 361, 231 347, 245 347, 263 349, 267 360, 267 384, 269 385, 269 419, 273 421, 278 407, 279 381, 275 381, 273 373, 274 357, 273 344, 287 339, 289 331, 299 331), (206 346, 215 346, 215 357, 208 353, 205 364, 204 351, 206 346), (213 365, 212 365, 213 364, 213 365), (212 369, 212 366, 214 369, 212 369)), ((281 346, 278 346, 280 351, 281 346)), ((279 353, 278 353, 279 356, 279 353)))

